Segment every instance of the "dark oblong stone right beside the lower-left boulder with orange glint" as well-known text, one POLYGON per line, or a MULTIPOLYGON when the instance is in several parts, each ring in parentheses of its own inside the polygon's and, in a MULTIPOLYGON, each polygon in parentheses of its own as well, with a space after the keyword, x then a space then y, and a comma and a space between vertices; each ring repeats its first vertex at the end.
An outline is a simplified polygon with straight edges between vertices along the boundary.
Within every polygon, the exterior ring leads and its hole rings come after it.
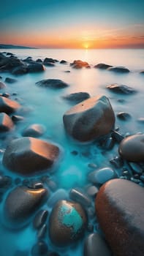
POLYGON ((42 225, 45 224, 46 220, 48 219, 48 211, 47 210, 40 210, 37 212, 36 216, 34 217, 33 226, 35 229, 39 229, 42 225))

